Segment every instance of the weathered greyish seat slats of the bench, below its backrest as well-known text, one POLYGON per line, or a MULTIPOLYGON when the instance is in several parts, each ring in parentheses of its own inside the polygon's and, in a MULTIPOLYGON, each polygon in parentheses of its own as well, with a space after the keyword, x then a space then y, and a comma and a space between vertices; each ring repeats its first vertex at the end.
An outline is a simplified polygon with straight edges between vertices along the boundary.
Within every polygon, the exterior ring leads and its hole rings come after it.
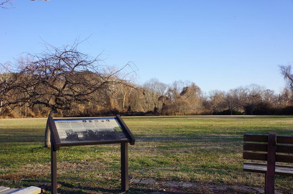
MULTIPOLYGON (((243 163, 243 171, 266 173, 266 164, 244 162, 243 163)), ((293 176, 293 166, 276 165, 275 174, 276 175, 293 176)))

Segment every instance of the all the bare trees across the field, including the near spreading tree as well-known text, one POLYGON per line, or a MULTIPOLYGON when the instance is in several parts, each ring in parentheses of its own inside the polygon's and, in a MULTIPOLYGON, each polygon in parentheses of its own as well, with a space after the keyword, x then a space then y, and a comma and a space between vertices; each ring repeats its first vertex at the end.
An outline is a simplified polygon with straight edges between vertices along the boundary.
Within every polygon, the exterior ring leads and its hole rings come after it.
POLYGON ((280 94, 256 84, 205 93, 191 81, 137 84, 135 64, 109 67, 100 55, 81 53, 80 43, 45 43, 40 54, 1 64, 0 116, 293 114, 290 65, 280 66, 287 81, 280 94))

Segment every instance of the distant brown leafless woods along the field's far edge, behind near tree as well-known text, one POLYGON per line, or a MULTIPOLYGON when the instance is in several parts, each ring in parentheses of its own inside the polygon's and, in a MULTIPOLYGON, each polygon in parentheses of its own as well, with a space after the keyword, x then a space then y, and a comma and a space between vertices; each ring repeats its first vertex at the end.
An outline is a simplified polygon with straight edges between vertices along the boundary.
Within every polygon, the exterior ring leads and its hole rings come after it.
MULTIPOLYGON (((72 109, 60 109, 55 116, 293 115, 292 92, 287 88, 280 95, 255 84, 226 92, 213 90, 203 93, 189 81, 174 81, 168 85, 154 78, 143 85, 120 83, 110 86, 107 92, 97 92, 97 102, 78 103, 72 109)), ((42 104, 31 106, 28 102, 8 109, 10 111, 2 117, 45 117, 51 110, 42 104)))

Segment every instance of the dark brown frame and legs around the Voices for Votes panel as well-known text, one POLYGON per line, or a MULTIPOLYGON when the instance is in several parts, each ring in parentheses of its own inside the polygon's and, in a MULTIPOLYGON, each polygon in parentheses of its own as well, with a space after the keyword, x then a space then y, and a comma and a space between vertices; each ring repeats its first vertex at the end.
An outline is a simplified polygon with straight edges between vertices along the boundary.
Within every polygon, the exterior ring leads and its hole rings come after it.
MULTIPOLYGON (((117 119, 118 123, 121 125, 124 132, 126 133, 127 140, 103 140, 103 141, 61 143, 54 119, 52 116, 48 117, 48 124, 49 124, 50 132, 51 132, 51 193, 52 194, 57 194, 56 151, 60 150, 60 147, 99 145, 99 144, 119 144, 119 143, 121 144, 121 190, 123 192, 128 191, 128 143, 130 143, 130 145, 134 145, 135 137, 132 135, 131 131, 129 130, 127 125, 124 123, 120 115, 116 115, 115 118, 117 119)), ((105 117, 104 119, 107 119, 107 117, 105 117)))

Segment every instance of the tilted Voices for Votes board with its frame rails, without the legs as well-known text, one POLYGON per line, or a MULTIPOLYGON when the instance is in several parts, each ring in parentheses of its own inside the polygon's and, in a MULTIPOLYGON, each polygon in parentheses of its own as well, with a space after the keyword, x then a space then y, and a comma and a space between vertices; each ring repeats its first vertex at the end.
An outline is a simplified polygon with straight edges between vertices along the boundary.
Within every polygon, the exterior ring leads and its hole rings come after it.
POLYGON ((105 118, 63 118, 49 117, 54 148, 94 144, 134 144, 135 138, 121 119, 105 118))

